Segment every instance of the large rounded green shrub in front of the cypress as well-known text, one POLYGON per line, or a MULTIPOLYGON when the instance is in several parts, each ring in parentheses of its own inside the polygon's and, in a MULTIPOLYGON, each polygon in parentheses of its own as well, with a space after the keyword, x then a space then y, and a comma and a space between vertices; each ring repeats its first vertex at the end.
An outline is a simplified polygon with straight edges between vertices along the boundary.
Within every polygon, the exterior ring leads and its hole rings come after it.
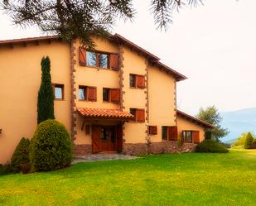
POLYGON ((63 124, 48 119, 36 127, 31 139, 32 170, 56 170, 70 165, 72 142, 63 124))

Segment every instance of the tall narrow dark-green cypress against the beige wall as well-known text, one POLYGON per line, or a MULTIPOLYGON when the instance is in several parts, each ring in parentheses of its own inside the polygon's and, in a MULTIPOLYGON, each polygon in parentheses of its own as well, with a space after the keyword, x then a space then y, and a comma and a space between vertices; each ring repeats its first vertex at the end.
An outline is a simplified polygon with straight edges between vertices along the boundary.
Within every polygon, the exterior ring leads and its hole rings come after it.
POLYGON ((41 59, 41 86, 37 96, 37 124, 54 117, 54 93, 51 87, 51 62, 48 56, 41 59))

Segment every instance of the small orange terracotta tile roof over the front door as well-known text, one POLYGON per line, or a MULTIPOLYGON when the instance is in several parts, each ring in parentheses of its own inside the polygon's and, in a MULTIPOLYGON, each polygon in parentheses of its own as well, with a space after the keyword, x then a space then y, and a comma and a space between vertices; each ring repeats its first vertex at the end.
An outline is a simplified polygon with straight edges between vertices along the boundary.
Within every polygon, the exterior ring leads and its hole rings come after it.
POLYGON ((132 120, 133 114, 110 108, 77 108, 82 117, 132 120))

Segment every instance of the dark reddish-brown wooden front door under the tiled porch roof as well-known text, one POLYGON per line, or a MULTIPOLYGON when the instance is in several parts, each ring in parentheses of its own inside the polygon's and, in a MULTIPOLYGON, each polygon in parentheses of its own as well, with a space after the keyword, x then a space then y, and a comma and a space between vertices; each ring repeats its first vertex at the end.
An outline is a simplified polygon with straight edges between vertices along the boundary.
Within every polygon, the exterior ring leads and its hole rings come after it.
POLYGON ((92 141, 93 152, 117 151, 117 127, 93 125, 92 141))

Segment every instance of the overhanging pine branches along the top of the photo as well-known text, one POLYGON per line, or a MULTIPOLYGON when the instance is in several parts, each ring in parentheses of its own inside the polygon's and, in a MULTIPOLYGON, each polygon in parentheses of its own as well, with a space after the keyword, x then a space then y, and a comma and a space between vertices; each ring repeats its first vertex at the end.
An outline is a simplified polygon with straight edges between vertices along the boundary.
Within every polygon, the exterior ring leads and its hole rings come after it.
MULTIPOLYGON (((151 0, 149 8, 160 29, 167 29, 172 13, 181 7, 196 7, 203 0, 151 0)), ((133 19, 133 0, 3 0, 2 9, 19 26, 38 26, 64 41, 80 38, 94 46, 91 35, 105 36, 118 19, 133 19)))

